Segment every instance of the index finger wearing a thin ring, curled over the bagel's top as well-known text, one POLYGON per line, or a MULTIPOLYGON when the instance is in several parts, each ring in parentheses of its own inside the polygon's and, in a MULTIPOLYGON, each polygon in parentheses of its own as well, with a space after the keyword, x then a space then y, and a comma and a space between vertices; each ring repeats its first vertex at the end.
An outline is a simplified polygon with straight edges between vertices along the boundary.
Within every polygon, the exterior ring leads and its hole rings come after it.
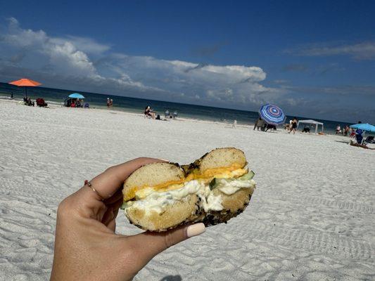
POLYGON ((164 160, 155 158, 137 158, 117 166, 111 166, 102 174, 93 178, 90 183, 96 190, 93 192, 91 188, 85 185, 80 192, 89 197, 96 197, 97 200, 107 200, 115 194, 115 192, 122 187, 125 179, 130 176, 136 169, 141 166, 153 162, 165 162, 164 160))

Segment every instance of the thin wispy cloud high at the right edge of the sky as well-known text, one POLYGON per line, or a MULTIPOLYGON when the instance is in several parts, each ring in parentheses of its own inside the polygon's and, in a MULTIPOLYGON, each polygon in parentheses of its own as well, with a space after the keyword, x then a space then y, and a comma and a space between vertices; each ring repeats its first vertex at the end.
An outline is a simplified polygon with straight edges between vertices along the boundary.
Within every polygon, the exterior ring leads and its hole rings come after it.
POLYGON ((328 56, 328 55, 349 55, 356 60, 374 60, 375 42, 367 41, 357 44, 312 44, 300 46, 286 53, 306 56, 328 56))

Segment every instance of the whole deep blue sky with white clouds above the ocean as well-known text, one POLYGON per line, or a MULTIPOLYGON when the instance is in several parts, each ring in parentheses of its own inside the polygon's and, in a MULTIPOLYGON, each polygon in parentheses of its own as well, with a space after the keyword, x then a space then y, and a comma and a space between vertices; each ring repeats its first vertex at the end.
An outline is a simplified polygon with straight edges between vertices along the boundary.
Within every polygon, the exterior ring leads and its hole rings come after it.
POLYGON ((375 123, 375 1, 1 1, 0 81, 375 123))

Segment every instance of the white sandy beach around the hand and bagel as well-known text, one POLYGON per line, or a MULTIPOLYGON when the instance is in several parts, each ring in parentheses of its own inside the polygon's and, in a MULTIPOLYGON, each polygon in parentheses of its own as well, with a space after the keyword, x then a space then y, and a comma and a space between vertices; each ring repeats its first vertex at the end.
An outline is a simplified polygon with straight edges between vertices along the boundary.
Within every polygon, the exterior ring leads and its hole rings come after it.
MULTIPOLYGON (((108 166, 191 162, 234 146, 258 188, 246 211, 148 263, 134 280, 375 280, 375 151, 343 136, 0 100, 0 280, 48 280, 56 208, 108 166)), ((117 217, 117 232, 140 230, 117 217)))

